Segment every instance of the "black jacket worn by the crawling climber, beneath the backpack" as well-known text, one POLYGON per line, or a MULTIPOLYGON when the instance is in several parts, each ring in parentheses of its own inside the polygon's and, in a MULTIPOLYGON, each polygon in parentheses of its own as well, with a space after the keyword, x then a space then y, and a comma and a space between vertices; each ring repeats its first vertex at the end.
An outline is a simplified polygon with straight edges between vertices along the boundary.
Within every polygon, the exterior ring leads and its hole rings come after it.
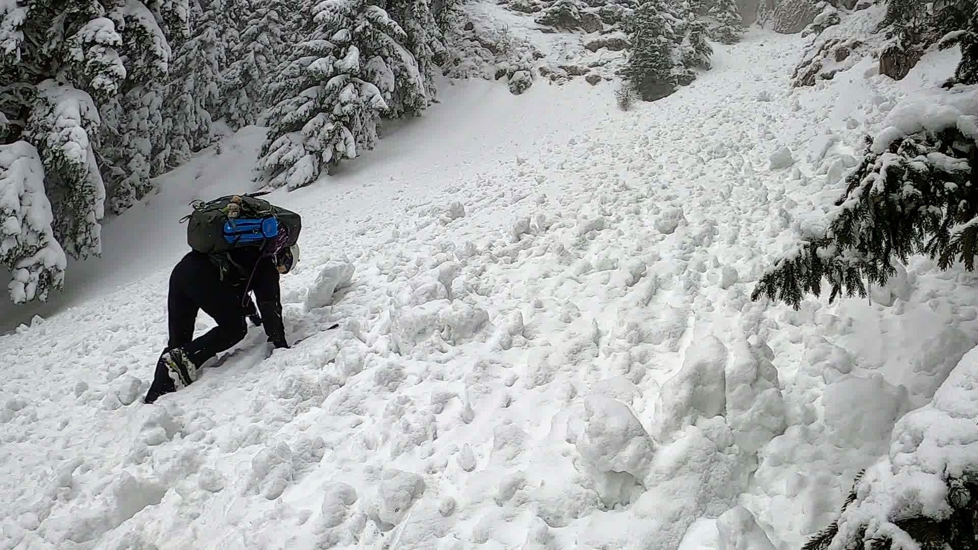
POLYGON ((285 343, 286 329, 282 320, 282 291, 279 286, 281 275, 275 262, 253 247, 228 252, 227 259, 228 265, 223 270, 224 284, 241 297, 243 311, 246 303, 244 297, 253 291, 268 342, 285 343))

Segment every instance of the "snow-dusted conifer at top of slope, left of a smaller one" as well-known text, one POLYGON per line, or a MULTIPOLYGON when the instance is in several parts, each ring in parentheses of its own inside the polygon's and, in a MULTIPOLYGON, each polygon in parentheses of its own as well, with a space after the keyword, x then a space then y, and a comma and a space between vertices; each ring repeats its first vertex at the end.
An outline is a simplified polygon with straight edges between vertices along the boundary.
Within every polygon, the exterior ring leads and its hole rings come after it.
POLYGON ((645 0, 626 24, 632 48, 622 74, 645 101, 666 97, 676 90, 673 21, 664 0, 645 0))

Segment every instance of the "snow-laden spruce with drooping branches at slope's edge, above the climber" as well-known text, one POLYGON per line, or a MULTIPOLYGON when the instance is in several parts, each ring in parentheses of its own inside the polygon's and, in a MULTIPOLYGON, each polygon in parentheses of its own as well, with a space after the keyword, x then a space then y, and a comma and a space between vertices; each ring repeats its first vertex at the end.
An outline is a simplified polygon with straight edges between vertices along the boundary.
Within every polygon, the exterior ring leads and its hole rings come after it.
POLYGON ((266 87, 275 107, 259 168, 272 187, 308 185, 324 167, 372 149, 389 110, 385 95, 406 106, 424 97, 417 64, 401 46, 407 36, 382 8, 324 0, 306 10, 309 38, 266 87))

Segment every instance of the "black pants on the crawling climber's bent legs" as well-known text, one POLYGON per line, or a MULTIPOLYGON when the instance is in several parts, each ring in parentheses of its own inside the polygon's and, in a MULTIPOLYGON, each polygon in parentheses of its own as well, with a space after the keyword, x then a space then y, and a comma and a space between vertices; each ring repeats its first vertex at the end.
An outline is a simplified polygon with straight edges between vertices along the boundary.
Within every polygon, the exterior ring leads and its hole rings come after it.
MULTIPOLYGON (((247 334, 243 300, 244 288, 221 281, 220 271, 205 254, 189 252, 170 273, 166 300, 169 341, 163 353, 182 347, 200 367, 207 359, 238 344, 247 334), (194 326, 201 309, 217 322, 217 326, 195 339, 194 326)), ((147 402, 173 390, 176 388, 167 369, 157 365, 147 402)))

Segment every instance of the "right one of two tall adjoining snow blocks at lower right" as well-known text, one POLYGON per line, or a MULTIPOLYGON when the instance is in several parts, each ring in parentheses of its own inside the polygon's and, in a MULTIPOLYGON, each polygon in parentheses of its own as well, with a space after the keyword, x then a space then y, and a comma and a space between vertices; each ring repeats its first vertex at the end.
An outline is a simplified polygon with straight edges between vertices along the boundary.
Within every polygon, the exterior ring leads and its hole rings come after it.
POLYGON ((767 344, 732 344, 725 369, 727 423, 733 439, 745 452, 757 452, 786 428, 784 400, 774 351, 767 344))

